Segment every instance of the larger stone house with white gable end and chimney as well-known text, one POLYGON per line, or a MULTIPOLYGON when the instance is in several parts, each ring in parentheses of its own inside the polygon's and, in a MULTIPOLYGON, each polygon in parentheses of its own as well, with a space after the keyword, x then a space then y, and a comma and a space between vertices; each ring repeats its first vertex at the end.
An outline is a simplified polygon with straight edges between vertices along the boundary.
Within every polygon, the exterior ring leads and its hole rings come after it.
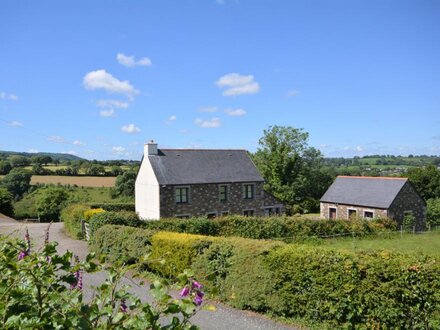
POLYGON ((263 183, 246 150, 158 149, 151 141, 136 178, 136 212, 150 220, 282 213, 263 183))

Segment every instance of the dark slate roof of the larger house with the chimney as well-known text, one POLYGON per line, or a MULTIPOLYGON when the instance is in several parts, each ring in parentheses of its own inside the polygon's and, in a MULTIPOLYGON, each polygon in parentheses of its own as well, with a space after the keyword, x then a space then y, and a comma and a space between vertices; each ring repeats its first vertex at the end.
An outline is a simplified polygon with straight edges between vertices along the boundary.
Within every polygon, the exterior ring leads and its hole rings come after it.
POLYGON ((148 159, 161 185, 264 181, 246 150, 159 149, 148 159))

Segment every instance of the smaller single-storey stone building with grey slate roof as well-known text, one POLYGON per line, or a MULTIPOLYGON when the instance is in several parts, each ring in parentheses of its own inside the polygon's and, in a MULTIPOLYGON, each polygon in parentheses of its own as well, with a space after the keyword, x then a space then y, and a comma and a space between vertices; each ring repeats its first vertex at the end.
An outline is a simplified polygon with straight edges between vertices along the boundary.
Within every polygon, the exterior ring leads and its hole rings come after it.
POLYGON ((416 229, 425 225, 426 204, 407 178, 338 176, 321 198, 321 217, 388 217, 402 224, 414 216, 416 229))

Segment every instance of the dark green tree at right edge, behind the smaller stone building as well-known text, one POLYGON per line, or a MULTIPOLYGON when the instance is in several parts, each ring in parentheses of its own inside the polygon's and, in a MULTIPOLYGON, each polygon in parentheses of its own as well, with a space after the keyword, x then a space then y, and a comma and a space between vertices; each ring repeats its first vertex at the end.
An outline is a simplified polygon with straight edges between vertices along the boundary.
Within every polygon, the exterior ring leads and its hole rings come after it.
POLYGON ((435 165, 410 168, 406 176, 425 201, 440 198, 440 170, 435 165))

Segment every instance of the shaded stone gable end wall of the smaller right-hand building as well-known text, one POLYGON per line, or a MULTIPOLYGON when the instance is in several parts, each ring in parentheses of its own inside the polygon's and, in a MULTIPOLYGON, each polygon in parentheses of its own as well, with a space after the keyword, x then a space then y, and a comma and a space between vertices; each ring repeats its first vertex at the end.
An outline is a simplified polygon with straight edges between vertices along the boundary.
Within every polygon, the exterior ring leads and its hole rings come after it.
POLYGON ((399 228, 403 224, 405 211, 412 211, 417 231, 425 229, 425 202, 409 182, 405 183, 389 208, 389 216, 397 221, 399 228))

